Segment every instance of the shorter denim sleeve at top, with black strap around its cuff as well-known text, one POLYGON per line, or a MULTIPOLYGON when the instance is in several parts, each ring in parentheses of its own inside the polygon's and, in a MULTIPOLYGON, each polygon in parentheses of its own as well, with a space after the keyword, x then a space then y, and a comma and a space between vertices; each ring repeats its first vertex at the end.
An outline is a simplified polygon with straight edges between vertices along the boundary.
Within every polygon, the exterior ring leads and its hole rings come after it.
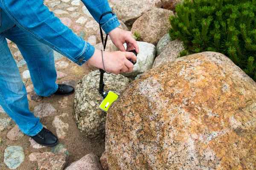
MULTIPOLYGON (((108 0, 81 0, 93 18, 99 23, 102 14, 112 11, 109 7, 108 0)), ((120 23, 115 14, 107 14, 100 20, 100 26, 108 34, 110 31, 118 27, 120 23)))

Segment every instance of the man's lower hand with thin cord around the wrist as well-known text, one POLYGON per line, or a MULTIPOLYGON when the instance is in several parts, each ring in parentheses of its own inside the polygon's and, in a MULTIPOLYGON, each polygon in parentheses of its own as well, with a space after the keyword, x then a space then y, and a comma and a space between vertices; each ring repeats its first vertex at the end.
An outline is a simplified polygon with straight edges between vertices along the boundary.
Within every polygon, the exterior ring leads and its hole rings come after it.
MULTIPOLYGON (((134 65, 128 59, 132 59, 133 62, 135 62, 137 57, 134 53, 126 51, 103 51, 103 59, 107 72, 119 74, 132 71, 134 65)), ((102 51, 95 49, 93 56, 87 61, 87 63, 104 70, 102 63, 102 51)))

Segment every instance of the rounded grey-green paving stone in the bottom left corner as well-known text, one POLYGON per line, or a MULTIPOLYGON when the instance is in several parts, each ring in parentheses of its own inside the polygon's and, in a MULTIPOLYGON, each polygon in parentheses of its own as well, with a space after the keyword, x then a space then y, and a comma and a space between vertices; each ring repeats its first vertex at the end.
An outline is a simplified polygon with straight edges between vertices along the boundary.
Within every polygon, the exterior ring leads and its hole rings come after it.
POLYGON ((20 146, 10 146, 4 150, 4 163, 14 170, 24 161, 23 148, 20 146))

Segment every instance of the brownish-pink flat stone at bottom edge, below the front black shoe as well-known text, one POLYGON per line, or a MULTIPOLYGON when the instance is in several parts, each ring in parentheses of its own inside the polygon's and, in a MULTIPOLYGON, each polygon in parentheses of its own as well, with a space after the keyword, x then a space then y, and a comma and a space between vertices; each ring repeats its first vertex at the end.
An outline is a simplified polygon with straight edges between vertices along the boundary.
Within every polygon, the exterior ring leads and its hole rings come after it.
POLYGON ((31 153, 29 160, 38 162, 38 170, 63 170, 66 157, 64 153, 31 153))

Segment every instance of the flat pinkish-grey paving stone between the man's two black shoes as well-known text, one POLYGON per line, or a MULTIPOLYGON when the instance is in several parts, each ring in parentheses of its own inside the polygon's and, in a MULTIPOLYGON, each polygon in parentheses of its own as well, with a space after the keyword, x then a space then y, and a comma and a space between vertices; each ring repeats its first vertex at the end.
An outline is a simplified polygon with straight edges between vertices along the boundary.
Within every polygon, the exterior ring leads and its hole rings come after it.
POLYGON ((49 103, 42 103, 34 108, 35 116, 42 118, 46 116, 52 116, 56 113, 55 108, 49 103))

